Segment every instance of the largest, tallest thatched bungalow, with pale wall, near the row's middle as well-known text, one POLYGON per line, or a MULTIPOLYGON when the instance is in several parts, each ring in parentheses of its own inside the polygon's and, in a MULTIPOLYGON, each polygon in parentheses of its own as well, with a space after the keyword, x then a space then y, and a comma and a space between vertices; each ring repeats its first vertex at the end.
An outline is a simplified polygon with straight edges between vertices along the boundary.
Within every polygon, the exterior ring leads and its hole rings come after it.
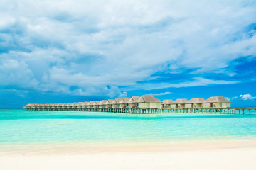
POLYGON ((134 103, 137 108, 161 108, 161 101, 151 95, 142 95, 134 103))

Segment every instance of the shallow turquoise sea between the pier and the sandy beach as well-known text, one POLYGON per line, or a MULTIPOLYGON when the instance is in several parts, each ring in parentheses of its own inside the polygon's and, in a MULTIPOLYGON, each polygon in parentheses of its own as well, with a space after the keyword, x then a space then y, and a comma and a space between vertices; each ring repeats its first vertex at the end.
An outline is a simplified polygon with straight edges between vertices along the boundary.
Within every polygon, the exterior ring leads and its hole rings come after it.
POLYGON ((0 144, 256 140, 256 114, 0 110, 0 144))

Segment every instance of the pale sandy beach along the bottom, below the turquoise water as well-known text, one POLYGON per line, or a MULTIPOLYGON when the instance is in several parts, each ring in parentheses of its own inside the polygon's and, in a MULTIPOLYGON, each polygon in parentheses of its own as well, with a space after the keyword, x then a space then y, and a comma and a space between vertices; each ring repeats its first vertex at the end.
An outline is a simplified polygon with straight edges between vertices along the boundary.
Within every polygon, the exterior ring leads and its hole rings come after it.
POLYGON ((0 169, 255 169, 256 142, 0 146, 0 169), (20 148, 19 148, 20 147, 20 148))

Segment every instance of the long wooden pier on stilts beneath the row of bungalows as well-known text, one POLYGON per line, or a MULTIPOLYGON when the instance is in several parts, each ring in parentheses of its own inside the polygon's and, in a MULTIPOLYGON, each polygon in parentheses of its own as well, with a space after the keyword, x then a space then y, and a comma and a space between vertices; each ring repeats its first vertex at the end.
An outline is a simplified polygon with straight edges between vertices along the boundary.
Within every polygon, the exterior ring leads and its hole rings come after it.
POLYGON ((256 108, 80 108, 80 107, 32 107, 32 111, 90 111, 112 113, 219 113, 219 114, 251 114, 256 108))

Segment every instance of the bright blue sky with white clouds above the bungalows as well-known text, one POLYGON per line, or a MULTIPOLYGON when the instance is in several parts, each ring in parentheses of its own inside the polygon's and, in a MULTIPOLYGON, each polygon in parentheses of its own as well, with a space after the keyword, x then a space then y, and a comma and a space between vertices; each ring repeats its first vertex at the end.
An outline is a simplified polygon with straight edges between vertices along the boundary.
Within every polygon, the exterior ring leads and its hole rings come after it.
POLYGON ((256 1, 0 0, 0 107, 153 94, 256 106, 256 1))

